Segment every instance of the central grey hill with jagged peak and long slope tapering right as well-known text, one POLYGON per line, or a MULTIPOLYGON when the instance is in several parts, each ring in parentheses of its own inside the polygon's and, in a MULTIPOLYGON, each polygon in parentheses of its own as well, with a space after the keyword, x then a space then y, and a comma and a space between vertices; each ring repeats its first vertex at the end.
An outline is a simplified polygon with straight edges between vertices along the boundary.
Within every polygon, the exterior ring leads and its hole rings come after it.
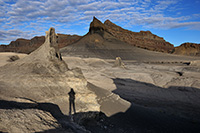
POLYGON ((149 51, 134 47, 112 36, 103 23, 94 17, 89 32, 79 41, 60 50, 64 56, 95 57, 115 59, 120 56, 123 60, 194 60, 187 56, 178 56, 149 51))

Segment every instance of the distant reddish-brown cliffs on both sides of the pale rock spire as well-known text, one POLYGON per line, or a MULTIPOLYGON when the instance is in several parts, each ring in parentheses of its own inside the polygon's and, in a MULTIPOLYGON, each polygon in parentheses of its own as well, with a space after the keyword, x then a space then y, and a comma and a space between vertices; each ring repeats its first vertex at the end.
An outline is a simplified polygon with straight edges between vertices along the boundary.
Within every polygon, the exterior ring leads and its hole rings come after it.
MULTIPOLYGON (((59 48, 65 47, 71 43, 79 40, 81 36, 78 35, 65 35, 58 34, 58 46, 59 48)), ((36 36, 31 40, 17 39, 12 41, 9 45, 0 45, 0 52, 17 52, 29 54, 39 48, 45 41, 44 36, 36 36)))

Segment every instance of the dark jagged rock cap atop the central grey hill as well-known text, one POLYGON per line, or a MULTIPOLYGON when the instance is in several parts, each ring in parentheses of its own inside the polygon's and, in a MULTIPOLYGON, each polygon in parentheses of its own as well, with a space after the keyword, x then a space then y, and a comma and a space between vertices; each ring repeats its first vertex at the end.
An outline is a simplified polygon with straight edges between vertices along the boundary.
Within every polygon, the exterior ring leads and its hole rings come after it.
POLYGON ((93 21, 90 23, 89 32, 93 33, 103 33, 105 31, 105 25, 98 20, 96 17, 93 17, 93 21))

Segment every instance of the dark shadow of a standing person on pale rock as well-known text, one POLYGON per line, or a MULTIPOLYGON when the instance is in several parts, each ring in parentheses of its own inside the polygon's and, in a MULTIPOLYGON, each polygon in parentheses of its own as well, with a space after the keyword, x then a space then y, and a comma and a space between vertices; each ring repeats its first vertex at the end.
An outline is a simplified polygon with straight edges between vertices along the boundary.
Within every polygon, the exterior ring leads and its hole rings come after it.
POLYGON ((74 92, 74 89, 71 88, 71 91, 68 93, 68 95, 69 95, 69 115, 71 115, 71 113, 72 113, 72 106, 73 106, 74 114, 76 113, 75 94, 76 93, 74 92))

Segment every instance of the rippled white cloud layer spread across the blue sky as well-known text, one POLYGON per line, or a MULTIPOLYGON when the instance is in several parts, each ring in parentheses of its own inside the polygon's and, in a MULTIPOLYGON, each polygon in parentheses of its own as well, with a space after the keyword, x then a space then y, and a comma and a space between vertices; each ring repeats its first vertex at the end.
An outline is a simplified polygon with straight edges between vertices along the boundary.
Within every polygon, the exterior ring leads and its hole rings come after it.
MULTIPOLYGON (((19 26, 26 25, 23 30, 27 27, 31 33, 36 29, 44 30, 44 27, 54 23, 63 27, 75 24, 87 27, 93 16, 100 20, 111 19, 148 28, 195 26, 200 30, 199 22, 192 21, 192 18, 199 19, 199 13, 181 16, 182 13, 176 12, 175 9, 179 9, 179 12, 182 10, 179 0, 0 0, 0 8, 0 31, 9 31, 3 32, 7 40, 9 36, 10 39, 15 37, 9 33, 11 29, 19 29, 19 26), (176 15, 169 16, 168 12, 176 15)), ((23 33, 19 35, 25 36, 23 33)))

